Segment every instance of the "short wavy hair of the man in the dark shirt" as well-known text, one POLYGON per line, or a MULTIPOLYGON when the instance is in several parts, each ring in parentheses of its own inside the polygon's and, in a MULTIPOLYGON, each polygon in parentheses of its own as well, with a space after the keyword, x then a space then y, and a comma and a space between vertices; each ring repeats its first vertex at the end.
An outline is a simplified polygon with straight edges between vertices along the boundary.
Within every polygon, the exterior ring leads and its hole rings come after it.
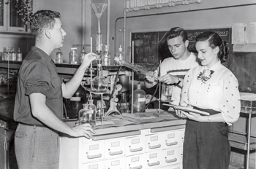
POLYGON ((32 15, 31 21, 31 34, 34 36, 40 36, 45 28, 53 28, 55 24, 55 18, 60 18, 59 12, 51 10, 39 10, 32 15))

